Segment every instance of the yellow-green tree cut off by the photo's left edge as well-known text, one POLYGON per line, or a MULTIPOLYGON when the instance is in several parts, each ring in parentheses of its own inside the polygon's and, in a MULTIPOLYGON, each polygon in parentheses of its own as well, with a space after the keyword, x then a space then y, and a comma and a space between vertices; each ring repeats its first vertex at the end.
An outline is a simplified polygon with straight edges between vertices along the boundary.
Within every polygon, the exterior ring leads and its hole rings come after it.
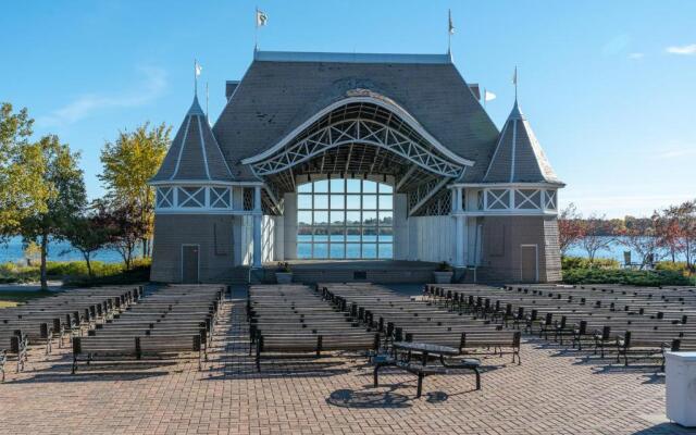
POLYGON ((29 142, 32 120, 26 109, 0 104, 0 238, 17 234, 27 215, 47 210, 49 192, 41 182, 45 162, 29 142))

